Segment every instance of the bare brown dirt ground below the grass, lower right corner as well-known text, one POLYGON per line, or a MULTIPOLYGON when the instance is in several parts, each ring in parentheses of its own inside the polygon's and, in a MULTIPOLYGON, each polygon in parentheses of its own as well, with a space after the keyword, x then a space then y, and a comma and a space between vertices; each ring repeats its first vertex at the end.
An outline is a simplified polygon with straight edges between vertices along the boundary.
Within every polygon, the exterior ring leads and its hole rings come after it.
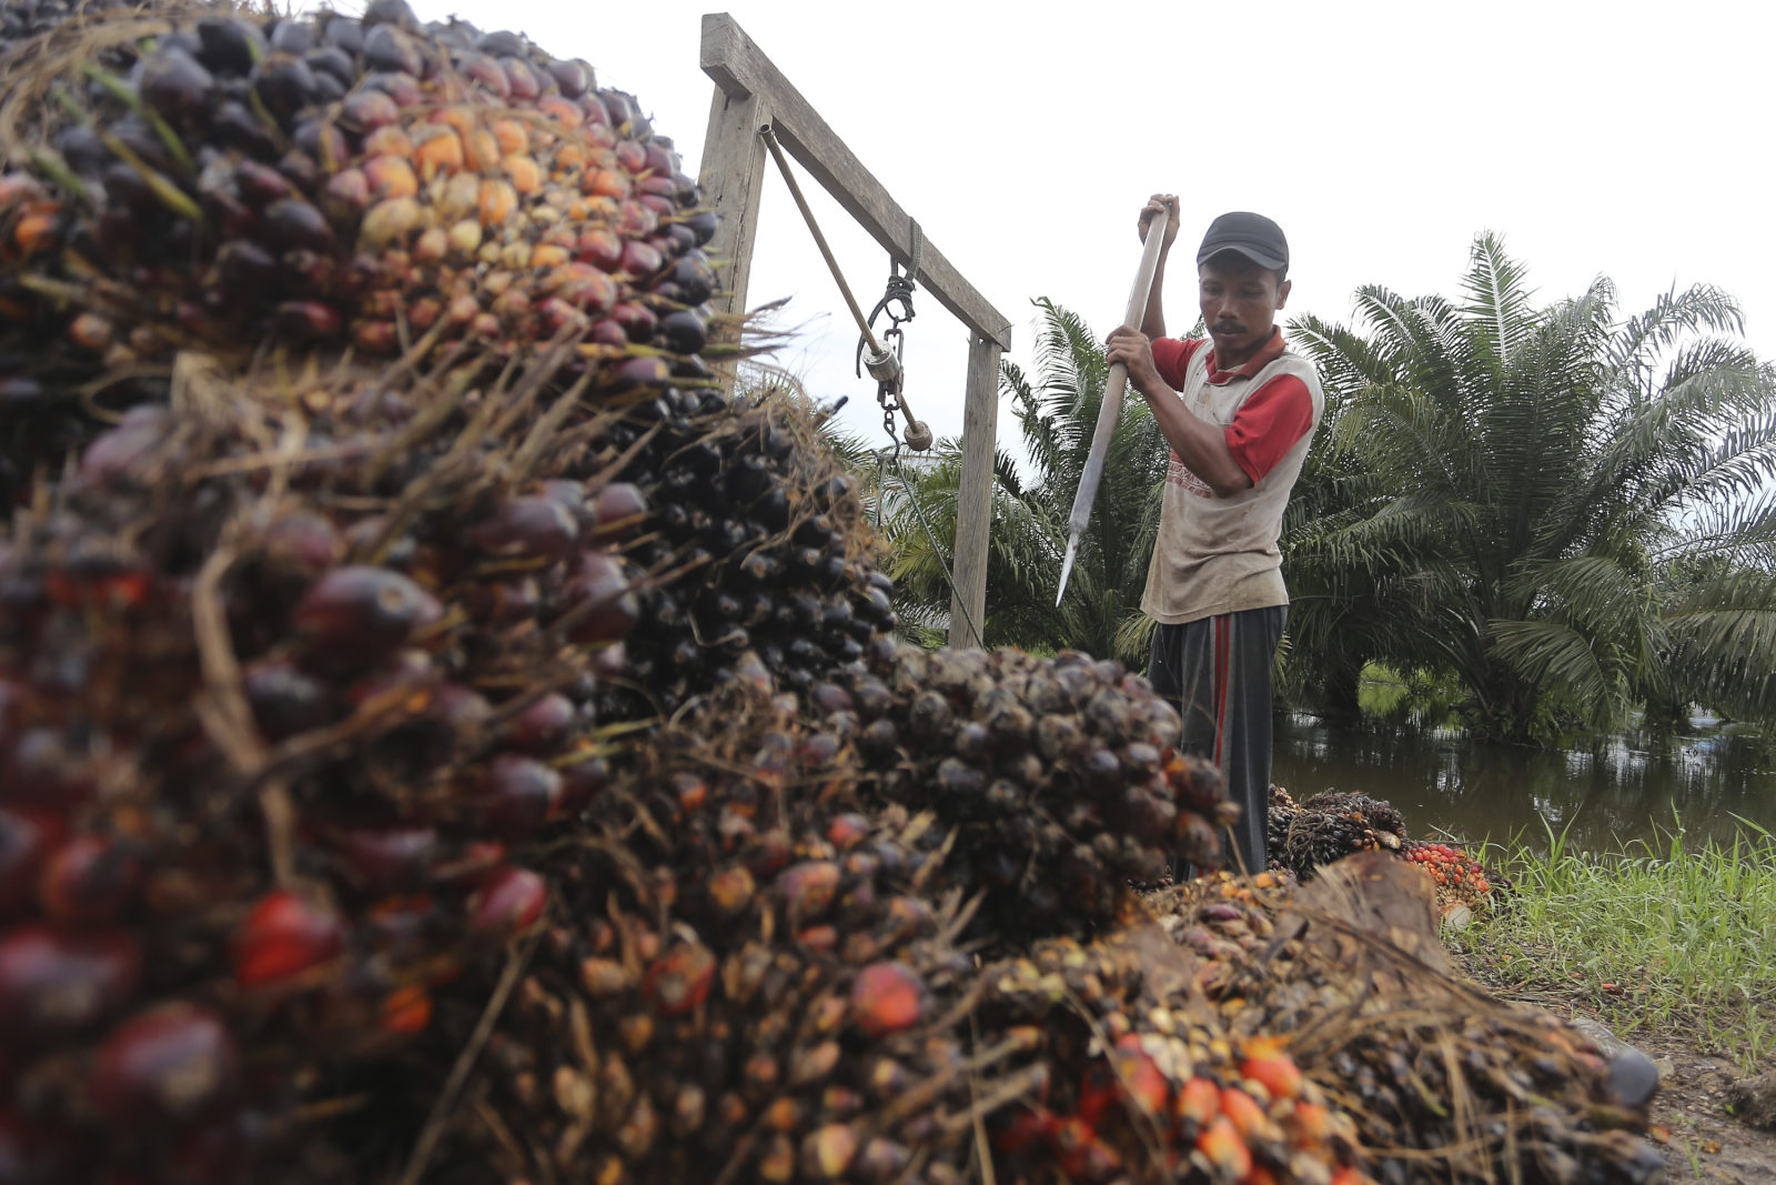
MULTIPOLYGON (((1469 970, 1478 968, 1471 965, 1469 970)), ((1559 1016, 1597 1020, 1577 995, 1559 998, 1490 986, 1506 1000, 1534 1004, 1559 1016)), ((1662 1144, 1669 1185, 1776 1185, 1776 1130, 1753 1126, 1740 1117, 1748 1110, 1764 1117, 1776 1114, 1776 1100, 1767 1098, 1776 1077, 1746 1078, 1732 1061, 1678 1036, 1641 1030, 1627 1034, 1625 1041, 1659 1064, 1652 1123, 1653 1139, 1662 1144), (1758 1098, 1748 1100, 1744 1091, 1753 1084, 1758 1098)))

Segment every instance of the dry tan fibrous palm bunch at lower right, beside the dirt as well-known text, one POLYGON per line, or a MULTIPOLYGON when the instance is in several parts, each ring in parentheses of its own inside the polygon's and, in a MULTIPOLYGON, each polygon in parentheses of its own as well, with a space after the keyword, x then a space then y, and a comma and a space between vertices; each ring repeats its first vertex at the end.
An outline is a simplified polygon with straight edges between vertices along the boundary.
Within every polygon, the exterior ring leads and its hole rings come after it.
POLYGON ((1364 853, 1293 887, 1201 879, 1149 899, 1233 1034, 1263 1032, 1359 1125, 1382 1181, 1641 1183, 1655 1075, 1458 977, 1428 878, 1364 853))

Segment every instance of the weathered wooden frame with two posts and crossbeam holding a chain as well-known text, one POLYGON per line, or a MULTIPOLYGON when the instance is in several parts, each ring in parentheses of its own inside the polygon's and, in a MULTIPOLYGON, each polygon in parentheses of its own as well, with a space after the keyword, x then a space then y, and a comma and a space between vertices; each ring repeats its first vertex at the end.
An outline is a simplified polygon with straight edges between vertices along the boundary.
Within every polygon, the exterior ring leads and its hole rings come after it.
MULTIPOLYGON (((831 194, 902 266, 911 268, 913 219, 852 155, 819 112, 783 78, 726 12, 703 16, 703 73, 716 84, 698 183, 721 222, 709 254, 718 261, 730 313, 746 311, 758 195, 765 171, 765 124, 778 144, 831 194)), ((1011 322, 975 291, 931 240, 920 247, 916 279, 968 327, 968 386, 963 405, 963 481, 957 490, 955 593, 950 645, 979 645, 968 622, 984 622, 987 538, 993 526, 993 444, 998 432, 998 364, 1011 348, 1011 322)))

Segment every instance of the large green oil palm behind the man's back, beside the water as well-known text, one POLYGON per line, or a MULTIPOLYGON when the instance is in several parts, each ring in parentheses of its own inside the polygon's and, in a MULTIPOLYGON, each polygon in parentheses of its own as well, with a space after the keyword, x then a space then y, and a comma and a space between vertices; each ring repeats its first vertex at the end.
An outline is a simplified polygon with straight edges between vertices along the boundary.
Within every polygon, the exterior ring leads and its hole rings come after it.
POLYGON ((1328 513, 1289 553, 1332 597, 1291 634, 1343 616, 1369 657, 1453 672, 1499 737, 1659 700, 1767 711, 1776 515, 1755 494, 1776 476, 1776 373, 1737 306, 1696 286, 1618 320, 1598 279, 1538 307, 1492 235, 1463 288, 1362 288, 1368 334, 1293 325, 1337 416, 1328 513))

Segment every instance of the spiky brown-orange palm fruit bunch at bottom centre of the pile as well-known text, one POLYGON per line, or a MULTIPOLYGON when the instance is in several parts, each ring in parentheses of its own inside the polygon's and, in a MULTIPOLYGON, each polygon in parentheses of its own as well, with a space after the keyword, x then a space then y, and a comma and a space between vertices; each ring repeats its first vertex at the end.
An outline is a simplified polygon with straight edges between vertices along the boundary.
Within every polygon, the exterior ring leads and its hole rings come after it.
MULTIPOLYGON (((950 1185, 973 1103, 1039 1089, 1041 1034, 970 1034, 945 830, 860 814, 831 734, 771 691, 742 657, 543 856, 558 908, 437 1149, 448 1180, 950 1185)), ((403 1162, 478 1020, 435 1025, 339 1126, 362 1174, 403 1162)))

